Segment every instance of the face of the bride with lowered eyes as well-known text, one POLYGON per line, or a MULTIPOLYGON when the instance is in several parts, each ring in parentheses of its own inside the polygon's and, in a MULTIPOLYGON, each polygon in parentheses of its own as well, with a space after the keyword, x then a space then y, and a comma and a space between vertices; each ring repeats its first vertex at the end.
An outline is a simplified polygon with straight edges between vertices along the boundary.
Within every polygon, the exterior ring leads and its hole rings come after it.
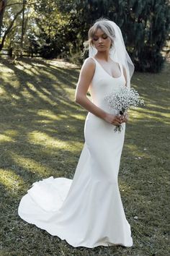
POLYGON ((107 51, 111 46, 111 39, 100 28, 94 34, 92 42, 97 51, 107 51))

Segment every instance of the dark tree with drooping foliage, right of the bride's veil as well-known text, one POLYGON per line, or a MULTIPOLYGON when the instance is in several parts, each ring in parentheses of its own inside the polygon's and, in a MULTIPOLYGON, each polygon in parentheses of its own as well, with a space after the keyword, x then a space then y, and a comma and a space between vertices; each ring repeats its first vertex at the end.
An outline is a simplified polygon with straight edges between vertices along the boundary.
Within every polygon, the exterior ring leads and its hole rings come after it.
POLYGON ((129 19, 125 26, 131 31, 133 61, 139 71, 158 72, 164 64, 161 51, 169 36, 170 13, 166 0, 129 0, 129 19))

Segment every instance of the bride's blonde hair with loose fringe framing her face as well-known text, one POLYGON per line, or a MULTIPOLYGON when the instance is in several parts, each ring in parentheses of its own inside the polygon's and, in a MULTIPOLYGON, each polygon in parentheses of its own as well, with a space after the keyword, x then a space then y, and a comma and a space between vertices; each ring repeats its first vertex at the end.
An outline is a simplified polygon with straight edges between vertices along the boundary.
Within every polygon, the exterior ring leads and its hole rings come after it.
POLYGON ((94 25, 89 28, 88 32, 88 40, 84 42, 84 53, 89 49, 89 46, 93 46, 93 38, 97 30, 100 28, 111 40, 111 46, 114 46, 114 40, 115 40, 115 30, 108 22, 109 20, 105 18, 100 18, 99 20, 96 20, 94 25))

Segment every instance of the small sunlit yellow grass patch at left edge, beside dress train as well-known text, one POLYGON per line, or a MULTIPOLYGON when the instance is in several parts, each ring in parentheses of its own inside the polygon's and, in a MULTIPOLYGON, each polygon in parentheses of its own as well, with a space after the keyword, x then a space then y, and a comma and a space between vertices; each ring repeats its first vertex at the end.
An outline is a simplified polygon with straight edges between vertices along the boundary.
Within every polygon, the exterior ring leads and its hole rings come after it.
POLYGON ((14 173, 8 168, 0 168, 0 183, 3 184, 9 191, 17 192, 19 186, 24 184, 21 176, 14 173))

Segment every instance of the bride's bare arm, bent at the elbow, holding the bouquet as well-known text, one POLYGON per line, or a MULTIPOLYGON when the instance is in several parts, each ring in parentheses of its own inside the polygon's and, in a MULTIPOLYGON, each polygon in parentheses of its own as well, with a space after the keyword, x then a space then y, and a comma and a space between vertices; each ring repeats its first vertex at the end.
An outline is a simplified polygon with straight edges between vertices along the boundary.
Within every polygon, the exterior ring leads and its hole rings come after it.
POLYGON ((92 103, 89 98, 86 97, 86 93, 89 89, 89 85, 94 76, 96 64, 93 59, 89 58, 84 61, 83 66, 81 67, 81 72, 79 75, 79 81, 76 87, 75 101, 84 107, 87 111, 91 112, 95 116, 98 116, 109 123, 119 125, 120 116, 115 116, 108 114, 103 111, 102 108, 99 108, 94 103, 92 103))

